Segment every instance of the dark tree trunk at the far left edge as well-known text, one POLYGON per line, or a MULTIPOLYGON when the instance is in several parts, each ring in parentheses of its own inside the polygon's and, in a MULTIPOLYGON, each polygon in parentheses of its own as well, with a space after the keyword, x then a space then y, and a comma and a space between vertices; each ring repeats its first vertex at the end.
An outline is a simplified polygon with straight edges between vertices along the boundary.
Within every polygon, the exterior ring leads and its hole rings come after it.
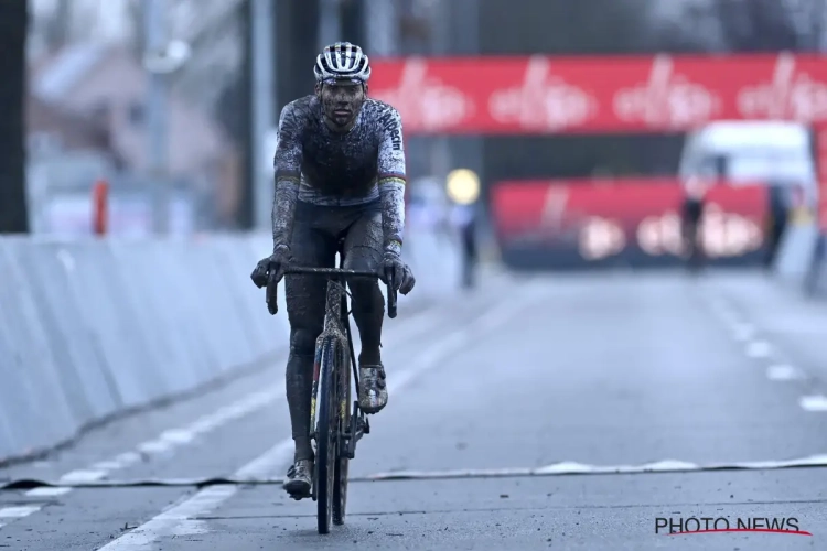
POLYGON ((25 181, 28 2, 0 1, 0 234, 29 231, 25 181))

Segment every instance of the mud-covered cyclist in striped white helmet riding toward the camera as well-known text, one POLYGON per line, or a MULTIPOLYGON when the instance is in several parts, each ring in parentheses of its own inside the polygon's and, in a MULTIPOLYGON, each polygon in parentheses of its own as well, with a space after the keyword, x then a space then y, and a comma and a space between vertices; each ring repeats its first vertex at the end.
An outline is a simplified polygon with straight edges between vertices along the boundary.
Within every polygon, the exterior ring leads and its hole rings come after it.
MULTIPOLYGON (((258 262, 253 281, 283 277, 298 266, 332 268, 344 238, 345 268, 376 271, 408 294, 416 282, 400 259, 405 228, 405 149, 401 118, 391 106, 367 98, 370 65, 359 46, 337 42, 319 54, 315 93, 281 111, 273 160, 272 255, 258 262)), ((315 339, 324 324, 325 280, 287 276, 290 321, 287 400, 293 465, 284 489, 294 499, 310 497, 313 450, 310 398, 315 339)), ((379 354, 385 301, 377 281, 351 282, 358 357, 359 407, 377 413, 388 400, 379 354)))

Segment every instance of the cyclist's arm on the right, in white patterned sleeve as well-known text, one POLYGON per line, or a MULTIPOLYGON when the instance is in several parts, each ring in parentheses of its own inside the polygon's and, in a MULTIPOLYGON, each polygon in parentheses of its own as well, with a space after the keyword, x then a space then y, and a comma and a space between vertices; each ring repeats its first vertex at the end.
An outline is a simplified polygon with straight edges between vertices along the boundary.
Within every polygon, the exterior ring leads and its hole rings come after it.
POLYGON ((378 184, 382 198, 382 229, 386 252, 401 255, 405 233, 405 144, 402 119, 389 107, 383 117, 383 139, 379 144, 378 184))

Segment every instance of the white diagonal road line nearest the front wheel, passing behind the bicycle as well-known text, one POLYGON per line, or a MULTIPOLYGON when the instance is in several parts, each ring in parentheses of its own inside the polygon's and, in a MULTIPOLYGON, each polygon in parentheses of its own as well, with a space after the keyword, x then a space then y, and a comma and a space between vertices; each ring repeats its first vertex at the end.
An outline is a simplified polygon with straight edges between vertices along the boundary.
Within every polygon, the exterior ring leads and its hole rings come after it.
MULTIPOLYGON (((461 349, 462 346, 473 344, 477 332, 495 328, 495 324, 491 320, 497 320, 496 325, 504 324, 509 321, 512 315, 522 310, 525 303, 528 301, 535 301, 536 299, 536 291, 529 293, 528 296, 524 296, 522 300, 514 298, 514 300, 509 301, 507 304, 491 311, 491 315, 485 315, 480 318, 479 323, 448 334, 441 341, 434 342, 417 357, 418 361, 415 368, 402 371, 399 374, 399 378, 394 376, 388 377, 388 385, 390 385, 393 379, 396 379, 394 388, 395 390, 399 390, 414 380, 415 377, 434 368, 445 356, 461 349)), ((265 477, 275 472, 279 466, 283 466, 288 463, 292 453, 293 441, 292 439, 286 439, 268 450, 265 454, 244 465, 235 473, 235 476, 246 479, 265 477)), ((158 541, 159 538, 176 534, 181 531, 193 529, 193 527, 198 530, 198 533, 203 533, 203 522, 192 520, 193 517, 203 516, 204 514, 214 510, 222 503, 229 499, 237 490, 237 486, 214 486, 203 489, 194 496, 179 503, 165 512, 162 512, 148 522, 144 522, 129 533, 111 541, 98 551, 136 551, 148 549, 158 541)))

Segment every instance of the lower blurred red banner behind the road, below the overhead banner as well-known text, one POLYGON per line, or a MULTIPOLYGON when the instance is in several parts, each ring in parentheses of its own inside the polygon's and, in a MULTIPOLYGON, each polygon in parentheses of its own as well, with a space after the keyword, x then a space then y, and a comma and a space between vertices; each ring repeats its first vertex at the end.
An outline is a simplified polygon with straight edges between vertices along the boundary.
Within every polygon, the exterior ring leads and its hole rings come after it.
MULTIPOLYGON (((635 250, 645 256, 685 253, 684 192, 645 179, 593 185, 589 181, 502 182, 492 214, 504 248, 577 250, 595 261, 635 250)), ((766 187, 716 185, 707 194, 702 241, 711 259, 759 251, 764 242, 766 187)))

